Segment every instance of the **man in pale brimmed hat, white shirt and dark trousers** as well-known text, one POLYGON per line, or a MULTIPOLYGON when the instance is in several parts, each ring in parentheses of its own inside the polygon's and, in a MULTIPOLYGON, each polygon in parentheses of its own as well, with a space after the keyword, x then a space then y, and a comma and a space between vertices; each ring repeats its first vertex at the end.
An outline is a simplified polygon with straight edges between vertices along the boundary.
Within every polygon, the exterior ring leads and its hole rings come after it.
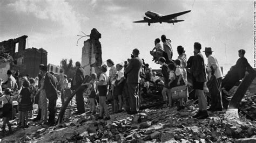
POLYGON ((207 82, 207 87, 211 93, 211 107, 208 109, 209 111, 222 111, 223 104, 221 98, 221 79, 223 74, 221 73, 221 69, 217 59, 212 55, 212 48, 205 48, 205 55, 208 58, 207 64, 207 73, 209 77, 209 81, 207 82))

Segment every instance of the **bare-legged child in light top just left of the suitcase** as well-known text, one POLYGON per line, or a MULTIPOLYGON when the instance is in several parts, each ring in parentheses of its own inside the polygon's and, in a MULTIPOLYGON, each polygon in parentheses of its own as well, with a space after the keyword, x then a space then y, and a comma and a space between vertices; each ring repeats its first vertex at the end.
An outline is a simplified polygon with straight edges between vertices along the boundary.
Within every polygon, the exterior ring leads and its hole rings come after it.
MULTIPOLYGON (((174 70, 175 70, 175 65, 173 63, 170 63, 168 65, 168 70, 169 70, 169 82, 168 82, 168 86, 171 90, 171 88, 173 87, 176 87, 176 76, 175 76, 175 73, 174 73, 174 70)), ((168 97, 169 97, 169 106, 172 106, 172 94, 171 92, 169 91, 168 92, 168 97)))

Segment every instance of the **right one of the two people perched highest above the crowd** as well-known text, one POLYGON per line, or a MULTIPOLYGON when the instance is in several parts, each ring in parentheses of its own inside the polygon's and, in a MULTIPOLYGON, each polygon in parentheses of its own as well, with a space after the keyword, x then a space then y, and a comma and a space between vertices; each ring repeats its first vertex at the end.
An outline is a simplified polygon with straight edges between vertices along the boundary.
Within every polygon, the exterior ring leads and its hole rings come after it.
MULTIPOLYGON (((168 59, 165 59, 167 63, 172 60, 172 45, 171 40, 167 39, 165 35, 161 35, 161 41, 163 42, 164 52, 167 54, 168 59)), ((164 56, 164 55, 163 55, 164 56)))

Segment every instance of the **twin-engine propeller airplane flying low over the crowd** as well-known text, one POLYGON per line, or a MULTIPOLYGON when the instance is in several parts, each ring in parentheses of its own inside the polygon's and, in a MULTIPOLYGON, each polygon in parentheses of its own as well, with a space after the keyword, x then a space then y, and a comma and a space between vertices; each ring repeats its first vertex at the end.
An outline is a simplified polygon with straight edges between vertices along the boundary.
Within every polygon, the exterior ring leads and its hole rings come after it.
POLYGON ((157 12, 153 12, 153 11, 147 11, 145 13, 146 17, 144 17, 144 20, 140 20, 140 21, 136 21, 133 23, 148 23, 147 25, 150 26, 151 23, 172 23, 174 25, 174 23, 178 23, 178 22, 183 22, 184 20, 178 20, 177 17, 184 15, 185 13, 190 12, 191 10, 188 11, 183 11, 183 12, 179 12, 179 13, 174 13, 172 15, 166 15, 163 16, 157 12))

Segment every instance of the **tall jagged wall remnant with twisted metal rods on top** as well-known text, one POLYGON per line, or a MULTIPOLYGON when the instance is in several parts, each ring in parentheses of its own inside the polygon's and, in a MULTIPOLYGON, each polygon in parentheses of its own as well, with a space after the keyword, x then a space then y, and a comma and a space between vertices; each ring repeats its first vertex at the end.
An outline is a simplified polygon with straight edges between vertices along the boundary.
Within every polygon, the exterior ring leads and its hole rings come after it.
POLYGON ((82 67, 85 69, 86 75, 96 73, 100 74, 100 66, 102 65, 102 45, 99 42, 102 35, 96 28, 91 30, 90 39, 84 41, 82 49, 82 67))

